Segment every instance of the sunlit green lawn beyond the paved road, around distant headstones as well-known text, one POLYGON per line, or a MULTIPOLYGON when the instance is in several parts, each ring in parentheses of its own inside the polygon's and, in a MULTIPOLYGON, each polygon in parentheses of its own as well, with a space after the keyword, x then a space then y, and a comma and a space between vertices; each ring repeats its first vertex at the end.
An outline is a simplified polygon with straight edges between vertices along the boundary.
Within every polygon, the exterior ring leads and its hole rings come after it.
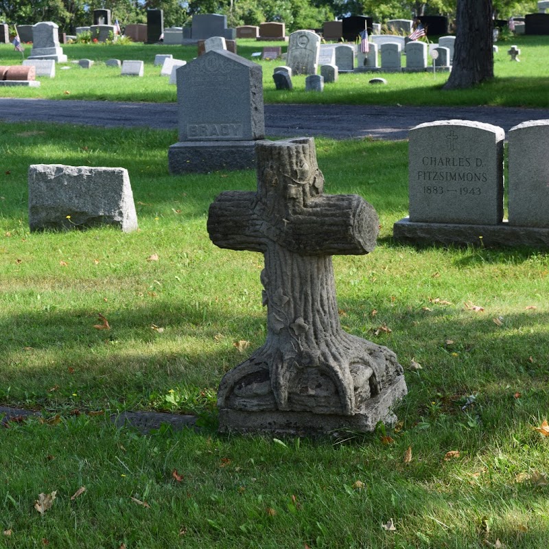
MULTIPOLYGON (((371 86, 371 73, 343 73, 335 84, 327 84, 323 93, 305 92, 305 77, 293 78, 292 91, 277 91, 272 81, 274 67, 283 65, 283 60, 259 61, 263 67, 264 98, 266 103, 325 103, 325 104, 381 104, 381 105, 493 105, 548 107, 549 38, 546 36, 515 36, 513 44, 520 47, 521 62, 511 62, 506 51, 511 42, 498 43, 495 54, 495 79, 465 91, 445 91, 441 86, 447 80, 447 73, 391 73, 382 74, 386 86, 371 86)), ((238 40, 238 54, 257 60, 252 54, 266 45, 281 43, 238 40)), ((284 45, 285 49, 287 46, 284 45)), ((30 45, 25 56, 30 55, 30 45)), ((69 61, 89 58, 95 61, 90 69, 81 69, 70 62, 56 66, 56 78, 40 77, 40 89, 1 88, 1 97, 40 97, 45 99, 110 100, 141 102, 174 102, 176 86, 168 84, 167 77, 161 77, 161 67, 154 67, 156 54, 171 53, 174 58, 190 61, 196 56, 195 46, 143 45, 86 45, 68 44, 63 51, 69 61), (110 58, 120 60, 138 59, 145 62, 143 78, 120 76, 119 69, 106 67, 104 61, 110 58), (62 70, 62 66, 71 67, 62 70)), ((0 59, 3 65, 20 64, 21 54, 12 45, 0 45, 0 59)), ((377 75, 377 74, 376 74, 377 75)))

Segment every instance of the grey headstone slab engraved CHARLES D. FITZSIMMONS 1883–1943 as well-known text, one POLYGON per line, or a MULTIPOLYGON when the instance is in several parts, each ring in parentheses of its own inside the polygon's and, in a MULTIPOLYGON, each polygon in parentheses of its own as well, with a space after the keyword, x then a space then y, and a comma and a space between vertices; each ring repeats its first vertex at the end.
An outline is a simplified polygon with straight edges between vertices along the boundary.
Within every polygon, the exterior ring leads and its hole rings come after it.
POLYGON ((502 128, 441 120, 412 128, 409 139, 411 222, 502 222, 502 128))

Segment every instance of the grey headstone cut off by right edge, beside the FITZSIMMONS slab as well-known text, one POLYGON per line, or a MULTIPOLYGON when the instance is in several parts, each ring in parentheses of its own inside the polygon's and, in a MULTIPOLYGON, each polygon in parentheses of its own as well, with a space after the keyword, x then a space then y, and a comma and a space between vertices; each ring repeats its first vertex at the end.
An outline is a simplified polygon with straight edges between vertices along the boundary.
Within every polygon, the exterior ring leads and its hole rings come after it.
POLYGON ((509 224, 549 227, 549 120, 509 130, 509 224))

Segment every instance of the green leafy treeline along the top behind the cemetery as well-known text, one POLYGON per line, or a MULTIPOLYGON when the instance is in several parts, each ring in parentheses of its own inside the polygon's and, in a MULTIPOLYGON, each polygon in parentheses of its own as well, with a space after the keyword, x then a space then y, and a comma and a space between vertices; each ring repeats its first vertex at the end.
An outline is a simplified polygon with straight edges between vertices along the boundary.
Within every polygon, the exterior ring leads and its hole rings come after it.
MULTIPOLYGON (((283 21, 286 29, 319 28, 324 21, 349 14, 369 15, 379 23, 388 19, 410 19, 412 14, 444 14, 451 18, 456 1, 430 0, 0 0, 0 21, 34 24, 54 21, 60 30, 91 25, 92 12, 111 10, 120 24, 145 23, 147 9, 164 10, 165 27, 183 26, 196 13, 225 14, 229 27, 283 21)), ((479 0, 480 1, 480 0, 479 0)), ((535 0, 494 0, 494 14, 500 19, 537 11, 535 0)))

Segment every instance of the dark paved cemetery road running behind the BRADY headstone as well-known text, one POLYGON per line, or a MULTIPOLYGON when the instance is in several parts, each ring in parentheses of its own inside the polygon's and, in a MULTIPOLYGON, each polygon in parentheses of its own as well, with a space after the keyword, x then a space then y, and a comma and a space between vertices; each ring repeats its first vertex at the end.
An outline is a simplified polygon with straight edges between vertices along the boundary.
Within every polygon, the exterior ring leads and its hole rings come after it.
MULTIPOLYGON (((335 139, 406 139, 408 130, 433 120, 487 122, 509 130, 526 120, 549 119, 549 109, 506 107, 410 107, 372 105, 266 105, 266 135, 323 135, 335 139)), ((52 101, 0 97, 1 121, 43 121, 175 129, 176 104, 52 101)))

